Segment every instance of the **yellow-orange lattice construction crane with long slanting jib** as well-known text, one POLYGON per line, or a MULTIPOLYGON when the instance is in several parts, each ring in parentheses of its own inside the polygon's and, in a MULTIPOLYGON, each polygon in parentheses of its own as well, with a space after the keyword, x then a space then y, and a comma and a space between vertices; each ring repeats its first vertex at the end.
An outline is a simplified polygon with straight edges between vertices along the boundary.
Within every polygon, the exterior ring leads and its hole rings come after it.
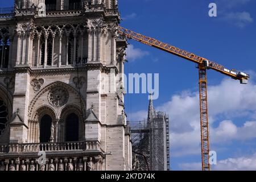
POLYGON ((199 68, 199 95, 200 95, 200 125, 201 125, 201 157, 202 157, 202 170, 210 171, 209 163, 209 122, 208 122, 208 105, 207 105, 207 69, 213 69, 226 76, 232 77, 235 80, 240 80, 241 84, 247 84, 250 76, 246 73, 236 71, 235 69, 227 69, 224 66, 214 63, 204 57, 195 55, 184 51, 180 48, 163 43, 154 38, 138 34, 137 32, 128 30, 123 27, 118 27, 118 32, 125 35, 129 39, 137 40, 148 46, 152 46, 162 51, 172 53, 175 56, 182 57, 193 63, 198 64, 199 68))

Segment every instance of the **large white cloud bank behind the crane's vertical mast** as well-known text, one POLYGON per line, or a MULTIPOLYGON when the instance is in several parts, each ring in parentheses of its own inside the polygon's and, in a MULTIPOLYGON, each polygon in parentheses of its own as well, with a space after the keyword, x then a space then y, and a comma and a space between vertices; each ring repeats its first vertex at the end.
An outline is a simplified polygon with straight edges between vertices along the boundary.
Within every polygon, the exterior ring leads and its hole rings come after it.
MULTIPOLYGON (((254 75, 254 73, 252 74, 254 75)), ((256 85, 253 77, 249 84, 240 85, 239 81, 225 78, 220 85, 208 86, 208 106, 210 122, 210 143, 224 144, 233 140, 256 138, 256 85), (232 119, 240 119, 237 125, 232 119), (212 124, 224 118, 217 127, 212 124)), ((172 156, 201 154, 199 93, 181 92, 170 101, 156 107, 170 115, 170 140, 172 156)), ((133 118, 145 118, 146 111, 138 111, 133 118)), ((130 117, 130 115, 128 115, 130 117)))

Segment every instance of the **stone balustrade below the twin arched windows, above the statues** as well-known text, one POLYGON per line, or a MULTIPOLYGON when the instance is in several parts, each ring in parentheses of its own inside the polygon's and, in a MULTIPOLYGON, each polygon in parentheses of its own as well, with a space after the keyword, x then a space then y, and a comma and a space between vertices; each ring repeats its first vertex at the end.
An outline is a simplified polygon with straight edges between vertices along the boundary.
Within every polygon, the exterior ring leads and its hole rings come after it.
POLYGON ((1 144, 1 153, 12 153, 12 152, 39 152, 39 151, 100 151, 100 142, 98 141, 85 141, 85 142, 63 142, 63 143, 11 143, 1 144))

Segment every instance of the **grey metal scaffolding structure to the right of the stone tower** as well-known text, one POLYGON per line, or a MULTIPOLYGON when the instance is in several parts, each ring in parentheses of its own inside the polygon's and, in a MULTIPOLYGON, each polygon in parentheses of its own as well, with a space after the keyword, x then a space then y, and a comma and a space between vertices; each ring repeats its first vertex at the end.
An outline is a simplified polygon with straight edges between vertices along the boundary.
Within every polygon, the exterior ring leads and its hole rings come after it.
POLYGON ((143 121, 131 122, 134 171, 170 169, 169 119, 156 112, 143 121))

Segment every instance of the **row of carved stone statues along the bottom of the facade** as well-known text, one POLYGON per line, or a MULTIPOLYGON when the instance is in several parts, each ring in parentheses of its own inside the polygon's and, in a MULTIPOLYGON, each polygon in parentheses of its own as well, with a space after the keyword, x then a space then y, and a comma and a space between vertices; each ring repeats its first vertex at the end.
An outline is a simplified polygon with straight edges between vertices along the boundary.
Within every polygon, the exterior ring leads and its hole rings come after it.
POLYGON ((104 158, 100 155, 79 157, 9 158, 0 160, 0 171, 102 171, 104 158))

